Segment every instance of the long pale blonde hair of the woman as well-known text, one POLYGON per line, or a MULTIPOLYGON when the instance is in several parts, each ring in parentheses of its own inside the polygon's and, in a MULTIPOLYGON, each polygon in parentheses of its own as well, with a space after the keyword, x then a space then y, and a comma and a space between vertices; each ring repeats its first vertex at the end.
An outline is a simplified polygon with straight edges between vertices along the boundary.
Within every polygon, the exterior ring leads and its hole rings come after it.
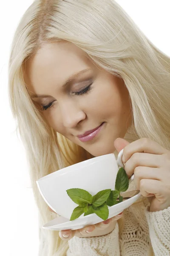
MULTIPOLYGON (((114 0, 34 0, 14 34, 8 72, 11 110, 26 148, 40 224, 54 218, 36 180, 92 156, 55 132, 29 97, 26 60, 44 44, 69 41, 97 66, 124 80, 134 131, 170 150, 170 58, 157 49, 114 0)), ((55 213, 54 213, 55 214, 55 213)), ((119 221, 120 224, 120 221, 119 221)), ((65 256, 68 241, 43 230, 41 256, 65 256), (46 248, 46 249, 45 249, 46 248), (46 251, 45 251, 46 250, 46 251)))

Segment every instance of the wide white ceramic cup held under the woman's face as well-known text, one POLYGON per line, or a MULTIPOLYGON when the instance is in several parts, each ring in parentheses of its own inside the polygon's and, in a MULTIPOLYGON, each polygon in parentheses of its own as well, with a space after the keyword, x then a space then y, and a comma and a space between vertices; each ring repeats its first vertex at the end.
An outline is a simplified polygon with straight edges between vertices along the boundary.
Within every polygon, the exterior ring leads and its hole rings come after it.
MULTIPOLYGON (((37 180, 42 198, 48 206, 62 217, 71 218, 78 205, 68 196, 66 190, 85 189, 92 196, 103 189, 115 190, 116 175, 122 163, 123 149, 118 158, 114 154, 105 154, 65 167, 37 180)), ((129 179, 129 184, 134 175, 129 179)), ((108 207, 109 209, 110 207, 108 207)), ((79 217, 82 218, 83 214, 79 217)))

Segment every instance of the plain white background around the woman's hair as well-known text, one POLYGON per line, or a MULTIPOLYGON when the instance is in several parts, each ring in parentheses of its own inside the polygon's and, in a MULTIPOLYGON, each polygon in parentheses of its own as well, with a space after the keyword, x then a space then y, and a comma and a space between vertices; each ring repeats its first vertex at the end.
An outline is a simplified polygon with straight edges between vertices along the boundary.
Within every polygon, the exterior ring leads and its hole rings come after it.
MULTIPOLYGON (((8 57, 13 33, 32 0, 0 1, 0 255, 38 256, 37 207, 26 154, 8 103, 8 57)), ((170 2, 116 0, 145 35, 170 56, 170 2)))

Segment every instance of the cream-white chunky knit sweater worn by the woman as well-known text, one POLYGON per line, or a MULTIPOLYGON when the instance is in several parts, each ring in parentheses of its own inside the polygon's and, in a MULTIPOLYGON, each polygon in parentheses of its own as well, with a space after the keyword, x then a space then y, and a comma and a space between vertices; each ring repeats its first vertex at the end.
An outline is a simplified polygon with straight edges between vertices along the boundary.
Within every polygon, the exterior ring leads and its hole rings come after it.
MULTIPOLYGON (((132 142, 135 136, 125 135, 132 142)), ((117 157, 117 151, 114 152, 117 157)), ((132 182, 127 191, 136 189, 132 182)), ((170 207, 149 212, 150 203, 141 196, 124 210, 125 225, 119 237, 119 225, 105 236, 79 238, 68 241, 67 256, 170 256, 170 207), (138 204, 136 204, 138 202, 138 204)))

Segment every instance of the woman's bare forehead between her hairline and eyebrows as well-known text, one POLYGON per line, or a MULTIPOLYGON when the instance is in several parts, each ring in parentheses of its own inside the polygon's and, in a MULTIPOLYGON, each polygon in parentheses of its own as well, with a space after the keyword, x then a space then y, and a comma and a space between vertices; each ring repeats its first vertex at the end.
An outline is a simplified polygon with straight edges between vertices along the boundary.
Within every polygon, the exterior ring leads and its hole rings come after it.
POLYGON ((70 42, 52 43, 26 61, 23 77, 28 91, 35 92, 48 84, 61 85, 69 76, 86 68, 94 68, 94 64, 79 47, 70 42))

